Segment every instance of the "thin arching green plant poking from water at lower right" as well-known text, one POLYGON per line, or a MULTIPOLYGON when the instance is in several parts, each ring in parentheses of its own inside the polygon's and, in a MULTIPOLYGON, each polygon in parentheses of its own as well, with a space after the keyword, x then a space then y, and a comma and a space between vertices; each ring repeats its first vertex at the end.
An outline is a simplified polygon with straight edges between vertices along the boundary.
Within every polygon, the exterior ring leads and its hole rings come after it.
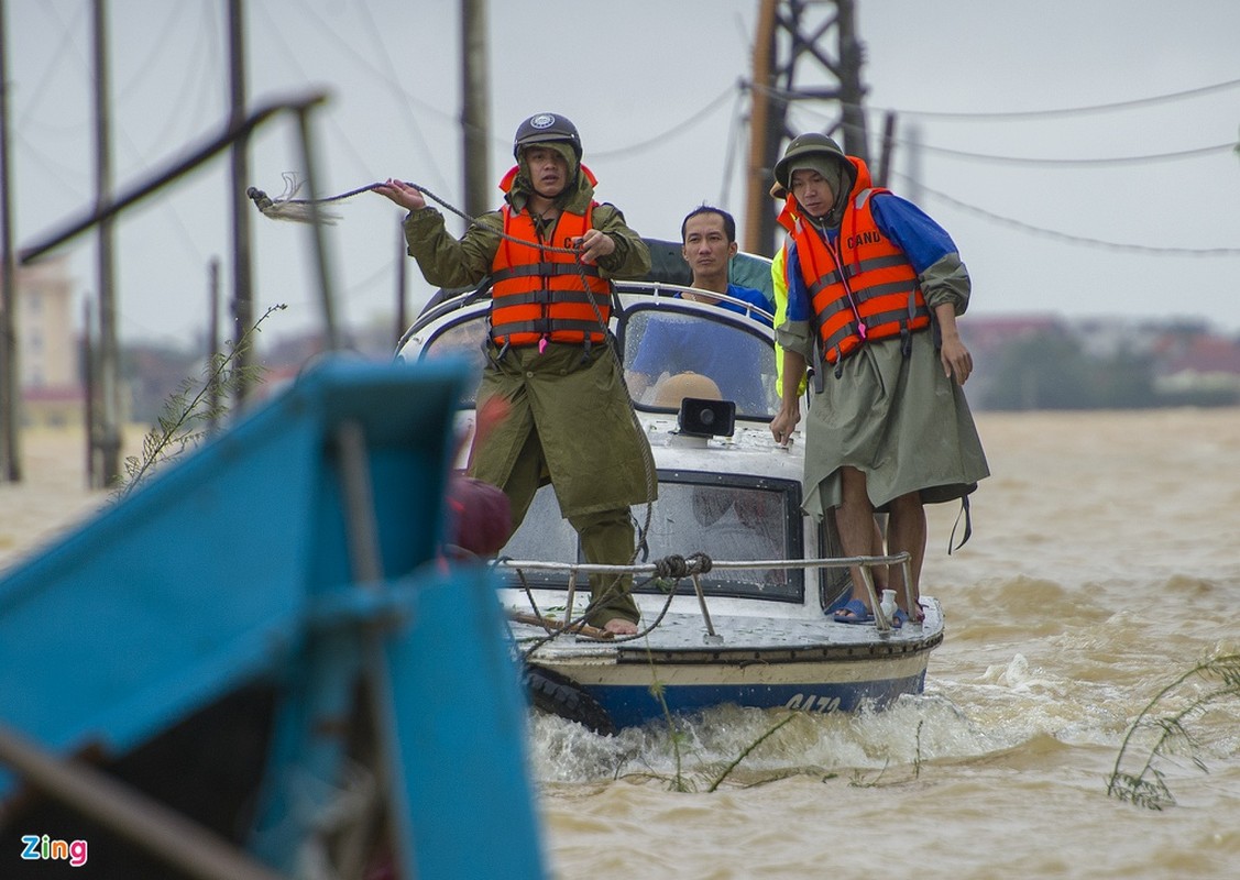
POLYGON ((1115 768, 1107 781, 1107 796, 1131 801, 1148 809, 1174 806, 1176 798, 1158 763, 1174 754, 1187 752, 1202 772, 1209 772, 1199 754, 1200 742, 1188 724, 1200 718, 1213 704, 1229 697, 1240 697, 1240 654, 1223 654, 1203 661, 1159 690, 1128 726, 1120 745, 1120 754, 1115 759, 1115 768), (1204 682, 1204 692, 1190 694, 1184 708, 1156 716, 1156 710, 1169 698, 1183 693, 1192 679, 1204 682), (1138 730, 1152 730, 1154 741, 1141 768, 1135 773, 1125 772, 1121 767, 1130 747, 1136 747, 1133 737, 1138 730))

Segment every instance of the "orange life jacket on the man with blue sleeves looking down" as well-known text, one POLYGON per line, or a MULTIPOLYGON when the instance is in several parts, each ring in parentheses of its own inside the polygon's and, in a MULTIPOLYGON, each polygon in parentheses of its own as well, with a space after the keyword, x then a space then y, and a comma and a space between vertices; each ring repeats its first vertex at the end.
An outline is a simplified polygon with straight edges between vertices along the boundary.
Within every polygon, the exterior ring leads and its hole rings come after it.
POLYGON ((887 190, 864 188, 852 196, 832 243, 802 217, 792 223, 822 356, 835 364, 867 340, 901 336, 906 353, 910 333, 930 326, 916 270, 874 219, 870 197, 880 192, 887 190))

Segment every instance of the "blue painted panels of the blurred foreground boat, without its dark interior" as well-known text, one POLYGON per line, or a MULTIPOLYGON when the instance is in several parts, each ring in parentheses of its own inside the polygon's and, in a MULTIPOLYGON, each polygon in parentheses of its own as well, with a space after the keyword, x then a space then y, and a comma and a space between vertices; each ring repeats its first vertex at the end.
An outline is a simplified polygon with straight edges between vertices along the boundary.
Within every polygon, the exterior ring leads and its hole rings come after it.
MULTIPOLYGON (((464 382, 456 364, 329 362, 12 569, 0 728, 113 760, 274 687, 247 835, 263 864, 291 873, 366 714, 405 876, 542 876, 494 578, 436 563, 464 382)), ((0 804, 19 791, 0 766, 0 804)))

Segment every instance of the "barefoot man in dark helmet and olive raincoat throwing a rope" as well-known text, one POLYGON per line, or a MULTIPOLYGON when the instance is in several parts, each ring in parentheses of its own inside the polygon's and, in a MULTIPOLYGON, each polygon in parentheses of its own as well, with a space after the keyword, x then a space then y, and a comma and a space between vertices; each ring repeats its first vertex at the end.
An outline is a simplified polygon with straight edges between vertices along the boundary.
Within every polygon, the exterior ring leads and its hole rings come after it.
MULTIPOLYGON (((517 129, 517 160, 500 183, 505 205, 460 239, 415 187, 388 180, 376 192, 407 208, 409 255, 440 288, 491 278, 487 368, 481 411, 502 400, 507 416, 475 436, 470 476, 508 496, 512 529, 534 492, 551 482, 587 561, 627 565, 635 557, 629 508, 657 492, 650 446, 611 351, 613 278, 650 271, 650 250, 624 214, 594 201, 594 175, 564 117, 539 113, 517 129)), ((594 575, 588 621, 636 632, 631 579, 594 575)))

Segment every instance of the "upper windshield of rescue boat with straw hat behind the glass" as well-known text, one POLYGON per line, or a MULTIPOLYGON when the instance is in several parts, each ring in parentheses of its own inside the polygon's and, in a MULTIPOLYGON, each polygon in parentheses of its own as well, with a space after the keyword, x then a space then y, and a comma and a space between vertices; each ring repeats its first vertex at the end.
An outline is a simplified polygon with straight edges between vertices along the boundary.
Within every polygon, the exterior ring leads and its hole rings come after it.
POLYGON ((770 419, 779 410, 775 348, 765 327, 722 309, 634 307, 621 330, 625 381, 644 409, 680 409, 681 398, 733 400, 738 416, 770 419))

